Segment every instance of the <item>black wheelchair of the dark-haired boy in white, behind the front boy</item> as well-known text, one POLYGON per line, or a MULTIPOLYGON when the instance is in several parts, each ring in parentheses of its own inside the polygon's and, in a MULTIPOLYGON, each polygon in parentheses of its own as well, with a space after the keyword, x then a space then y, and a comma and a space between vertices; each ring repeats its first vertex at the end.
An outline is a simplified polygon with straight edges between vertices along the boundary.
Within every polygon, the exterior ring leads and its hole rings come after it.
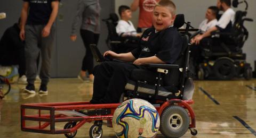
POLYGON ((106 23, 108 28, 106 44, 108 48, 115 53, 127 53, 139 46, 140 38, 118 36, 116 33, 116 25, 118 20, 119 19, 116 13, 110 13, 108 19, 102 20, 106 23))

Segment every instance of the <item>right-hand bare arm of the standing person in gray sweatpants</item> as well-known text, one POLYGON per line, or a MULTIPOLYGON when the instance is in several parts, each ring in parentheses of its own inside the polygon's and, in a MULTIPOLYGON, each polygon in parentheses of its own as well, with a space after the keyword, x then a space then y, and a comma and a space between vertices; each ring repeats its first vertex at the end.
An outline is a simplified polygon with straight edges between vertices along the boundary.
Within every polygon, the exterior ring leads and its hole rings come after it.
POLYGON ((52 28, 52 24, 54 23, 57 14, 58 14, 58 10, 59 10, 59 1, 53 1, 51 3, 52 5, 52 13, 50 16, 50 19, 48 21, 48 23, 45 25, 43 31, 42 31, 42 37, 48 37, 50 35, 51 32, 51 28, 52 28))

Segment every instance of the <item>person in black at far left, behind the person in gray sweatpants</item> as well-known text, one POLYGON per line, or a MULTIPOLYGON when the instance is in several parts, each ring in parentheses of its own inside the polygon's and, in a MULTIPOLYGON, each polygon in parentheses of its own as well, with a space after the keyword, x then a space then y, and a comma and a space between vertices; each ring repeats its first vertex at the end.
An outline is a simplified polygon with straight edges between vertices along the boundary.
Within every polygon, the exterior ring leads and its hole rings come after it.
POLYGON ((25 44, 20 40, 20 19, 5 30, 0 40, 0 65, 19 65, 18 83, 26 83, 25 44))

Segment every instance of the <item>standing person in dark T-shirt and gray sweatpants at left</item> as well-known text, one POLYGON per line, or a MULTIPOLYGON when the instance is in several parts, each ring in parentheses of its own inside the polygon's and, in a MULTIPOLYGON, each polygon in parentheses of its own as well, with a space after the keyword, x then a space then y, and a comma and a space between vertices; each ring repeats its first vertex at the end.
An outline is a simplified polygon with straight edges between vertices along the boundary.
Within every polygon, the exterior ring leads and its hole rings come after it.
POLYGON ((47 93, 47 83, 50 79, 51 50, 55 38, 53 23, 58 14, 60 0, 23 1, 20 38, 26 40, 25 58, 28 82, 24 91, 31 94, 35 93, 36 61, 40 53, 42 67, 39 76, 42 82, 39 93, 47 93))

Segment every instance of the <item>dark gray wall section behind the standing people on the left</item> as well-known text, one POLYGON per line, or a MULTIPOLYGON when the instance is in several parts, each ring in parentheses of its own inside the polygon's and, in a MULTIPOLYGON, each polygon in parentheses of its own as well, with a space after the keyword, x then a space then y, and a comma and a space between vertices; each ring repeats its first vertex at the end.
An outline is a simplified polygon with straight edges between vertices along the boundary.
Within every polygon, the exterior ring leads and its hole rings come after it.
MULTIPOLYGON (((76 14, 78 0, 62 0, 59 8, 59 15, 56 21, 57 34, 55 47, 52 51, 52 77, 76 77, 81 70, 82 60, 85 55, 85 48, 82 39, 77 33, 77 41, 72 42, 69 39, 71 32, 71 23, 76 14)), ((114 0, 100 0, 101 19, 109 17, 109 13, 114 12, 114 0)), ((0 1, 0 12, 6 12, 7 18, 0 20, 0 37, 4 31, 18 22, 22 8, 22 0, 0 1)), ((101 21, 101 34, 99 40, 99 49, 106 51, 107 27, 101 21)), ((1 49, 0 49, 1 50, 1 49)))

